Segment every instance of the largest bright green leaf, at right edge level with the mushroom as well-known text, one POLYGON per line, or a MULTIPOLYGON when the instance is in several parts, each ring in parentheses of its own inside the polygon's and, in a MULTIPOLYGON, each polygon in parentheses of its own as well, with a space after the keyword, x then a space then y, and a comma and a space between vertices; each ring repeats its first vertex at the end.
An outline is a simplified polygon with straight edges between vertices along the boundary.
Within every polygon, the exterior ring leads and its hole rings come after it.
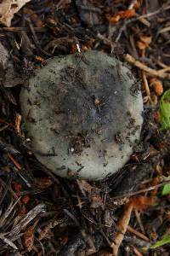
POLYGON ((167 90, 160 100, 161 128, 170 128, 170 89, 167 90))

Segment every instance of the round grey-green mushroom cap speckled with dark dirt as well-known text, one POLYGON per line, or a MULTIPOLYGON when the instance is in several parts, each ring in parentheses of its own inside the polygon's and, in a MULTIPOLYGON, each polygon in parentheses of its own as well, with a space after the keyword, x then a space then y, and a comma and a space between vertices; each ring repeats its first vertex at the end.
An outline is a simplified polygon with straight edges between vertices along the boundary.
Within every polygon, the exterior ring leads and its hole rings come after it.
POLYGON ((60 177, 99 180, 117 172, 143 123, 135 83, 121 61, 103 52, 49 59, 20 93, 37 160, 60 177))

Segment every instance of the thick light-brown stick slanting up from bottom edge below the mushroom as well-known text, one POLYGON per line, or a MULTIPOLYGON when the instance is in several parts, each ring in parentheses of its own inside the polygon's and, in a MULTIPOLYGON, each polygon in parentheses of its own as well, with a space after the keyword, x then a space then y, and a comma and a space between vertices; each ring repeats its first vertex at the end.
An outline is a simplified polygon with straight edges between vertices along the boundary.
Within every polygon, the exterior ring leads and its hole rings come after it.
POLYGON ((115 241, 111 244, 112 254, 114 256, 117 255, 119 247, 120 247, 122 240, 124 238, 124 235, 127 231, 127 226, 130 221, 132 211, 133 211, 133 204, 132 204, 132 202, 128 202, 125 205, 125 209, 124 209, 122 218, 119 219, 119 222, 118 222, 119 230, 116 232, 115 241))

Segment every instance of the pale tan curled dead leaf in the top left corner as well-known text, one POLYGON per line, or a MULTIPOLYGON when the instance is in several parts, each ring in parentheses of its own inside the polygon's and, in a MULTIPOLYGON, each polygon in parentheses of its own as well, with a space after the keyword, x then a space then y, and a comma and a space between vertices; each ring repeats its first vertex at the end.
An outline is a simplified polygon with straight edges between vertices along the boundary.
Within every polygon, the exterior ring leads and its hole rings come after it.
POLYGON ((14 14, 31 0, 2 0, 0 1, 0 23, 10 26, 14 14))

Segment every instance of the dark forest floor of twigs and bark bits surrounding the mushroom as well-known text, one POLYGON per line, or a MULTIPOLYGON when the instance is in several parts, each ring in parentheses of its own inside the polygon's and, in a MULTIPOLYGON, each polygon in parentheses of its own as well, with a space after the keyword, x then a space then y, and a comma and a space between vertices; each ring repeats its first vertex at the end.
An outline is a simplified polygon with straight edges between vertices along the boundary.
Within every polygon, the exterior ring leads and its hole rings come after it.
POLYGON ((170 1, 32 0, 0 26, 0 44, 14 65, 6 70, 1 59, 0 255, 170 255, 170 194, 162 193, 170 132, 160 129, 159 112, 170 88, 170 1), (37 67, 86 49, 126 61, 144 98, 131 160, 98 183, 42 166, 20 113, 20 90, 37 67))

